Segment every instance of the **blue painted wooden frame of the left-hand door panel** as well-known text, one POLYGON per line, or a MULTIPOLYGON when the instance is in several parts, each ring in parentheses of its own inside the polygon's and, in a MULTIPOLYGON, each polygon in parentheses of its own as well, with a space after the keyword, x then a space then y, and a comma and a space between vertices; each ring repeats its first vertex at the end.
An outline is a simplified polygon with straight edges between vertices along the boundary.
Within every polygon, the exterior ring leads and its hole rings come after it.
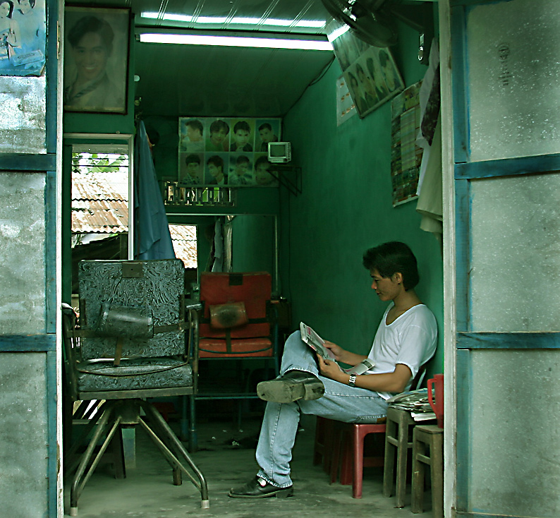
MULTIPOLYGON (((44 378, 37 379, 37 386, 46 387, 44 393, 44 406, 47 409, 47 473, 37 473, 37 478, 47 478, 47 495, 44 495, 44 514, 42 516, 55 518, 58 515, 59 494, 57 484, 59 482, 59 470, 61 466, 61 451, 59 449, 57 427, 59 420, 59 379, 57 373, 60 366, 57 365, 59 354, 57 354, 57 241, 58 222, 57 207, 57 112, 58 112, 58 67, 59 47, 57 34, 59 33, 59 3, 55 0, 46 1, 47 8, 47 60, 44 74, 46 75, 46 104, 44 106, 45 131, 44 131, 44 154, 22 154, 22 153, 0 153, 0 171, 9 171, 22 174, 37 174, 44 176, 44 328, 35 335, 6 335, 0 333, 0 354, 8 353, 20 356, 20 363, 27 365, 26 355, 43 356, 44 378)), ((17 6, 17 2, 16 2, 17 6)), ((61 23, 61 21, 60 21, 61 23)), ((40 265, 22 265, 22 267, 37 268, 40 265)), ((16 357, 18 357, 16 356, 16 357)), ((14 405, 16 407, 16 405, 14 405)), ((17 411, 18 409, 15 409, 17 411)), ((28 409, 20 408, 23 423, 28 409)), ((31 432, 35 430, 30 430, 31 432)), ((37 449, 42 450, 38 444, 37 449)), ((11 466, 6 466, 11 467, 11 466)), ((30 486, 32 480, 25 482, 30 486)), ((20 495, 11 495, 18 500, 21 512, 25 514, 25 490, 20 495)))

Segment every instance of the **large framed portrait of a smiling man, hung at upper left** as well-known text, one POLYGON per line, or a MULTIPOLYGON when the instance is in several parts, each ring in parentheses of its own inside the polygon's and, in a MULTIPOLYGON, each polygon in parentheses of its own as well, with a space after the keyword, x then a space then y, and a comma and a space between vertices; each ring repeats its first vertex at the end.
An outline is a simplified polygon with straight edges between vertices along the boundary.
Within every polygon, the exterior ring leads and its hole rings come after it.
POLYGON ((64 9, 66 112, 126 114, 130 9, 64 9))

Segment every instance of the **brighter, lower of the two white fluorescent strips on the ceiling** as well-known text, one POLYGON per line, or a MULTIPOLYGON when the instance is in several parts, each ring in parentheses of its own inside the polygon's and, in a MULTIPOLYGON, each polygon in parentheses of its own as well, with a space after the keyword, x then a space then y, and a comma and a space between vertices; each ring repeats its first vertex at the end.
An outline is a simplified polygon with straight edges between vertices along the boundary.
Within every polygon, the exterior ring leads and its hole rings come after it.
POLYGON ((280 40, 276 38, 209 36, 189 34, 140 33, 142 43, 171 43, 185 45, 216 45, 219 47, 253 47, 260 49, 327 50, 329 42, 319 40, 280 40))

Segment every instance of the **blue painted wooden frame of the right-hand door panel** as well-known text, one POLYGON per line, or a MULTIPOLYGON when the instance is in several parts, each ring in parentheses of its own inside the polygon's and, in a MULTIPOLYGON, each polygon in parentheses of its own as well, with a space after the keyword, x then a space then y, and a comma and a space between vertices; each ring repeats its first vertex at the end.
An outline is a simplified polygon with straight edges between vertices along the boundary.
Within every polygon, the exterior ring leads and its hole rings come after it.
MULTIPOLYGON (((559 332, 475 332, 473 329, 473 290, 470 272, 480 256, 473 255, 473 181, 518 175, 539 175, 560 171, 560 153, 473 161, 470 132, 470 92, 468 90, 468 16, 470 10, 485 4, 514 0, 450 0, 452 92, 454 112, 454 179, 456 192, 456 515, 461 517, 512 516, 500 508, 481 509, 473 502, 470 440, 473 427, 473 352, 507 350, 540 351, 560 348, 559 332)), ((504 20, 506 23, 506 20, 504 20)), ((490 253, 490 251, 488 252, 490 253)), ((504 282, 513 279, 504 278, 504 282)), ((523 433, 528 432, 525 430, 523 433)), ((559 445, 556 445, 559 447, 559 445)), ((521 466, 520 466, 521 468, 521 466)), ((523 488, 520 487, 520 491, 523 488)), ((527 498, 531 498, 527 495, 527 498)), ((525 514, 524 514, 525 515, 525 514)))

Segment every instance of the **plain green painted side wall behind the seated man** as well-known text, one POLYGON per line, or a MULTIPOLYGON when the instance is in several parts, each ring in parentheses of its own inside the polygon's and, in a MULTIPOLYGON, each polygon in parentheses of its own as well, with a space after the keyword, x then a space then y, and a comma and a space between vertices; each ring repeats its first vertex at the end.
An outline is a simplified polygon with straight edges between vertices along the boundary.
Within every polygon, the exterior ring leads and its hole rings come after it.
MULTIPOLYGON (((401 28, 394 49, 406 85, 420 80, 418 32, 401 28)), ((283 193, 281 278, 293 305, 293 326, 305 321, 324 338, 367 354, 386 303, 370 289, 363 252, 404 241, 418 258, 418 294, 439 324, 437 356, 443 369, 443 266, 440 246, 420 230, 416 202, 393 207, 390 176, 390 103, 336 126, 336 62, 284 119, 293 163, 302 167, 303 192, 283 193), (288 207, 288 210, 285 208, 288 207)))

